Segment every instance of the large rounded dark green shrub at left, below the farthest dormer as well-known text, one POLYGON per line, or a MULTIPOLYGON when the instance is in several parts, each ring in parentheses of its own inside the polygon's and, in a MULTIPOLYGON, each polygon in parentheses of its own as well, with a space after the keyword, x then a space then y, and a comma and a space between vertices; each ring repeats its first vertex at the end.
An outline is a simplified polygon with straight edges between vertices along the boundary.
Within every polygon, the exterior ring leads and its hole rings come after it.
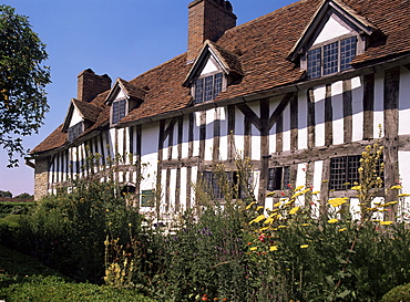
POLYGON ((101 283, 109 225, 115 238, 130 240, 129 223, 139 233, 141 216, 114 183, 76 180, 68 190, 42 198, 22 217, 14 246, 79 281, 101 283))

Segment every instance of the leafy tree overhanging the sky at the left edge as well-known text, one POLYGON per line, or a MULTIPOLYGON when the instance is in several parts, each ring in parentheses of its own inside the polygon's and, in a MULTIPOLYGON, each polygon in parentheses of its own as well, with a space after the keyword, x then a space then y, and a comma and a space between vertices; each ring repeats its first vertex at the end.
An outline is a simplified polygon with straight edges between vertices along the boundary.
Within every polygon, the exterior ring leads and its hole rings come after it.
POLYGON ((0 6, 0 145, 8 153, 8 167, 18 166, 14 155, 25 154, 22 137, 37 134, 49 111, 47 59, 45 44, 28 18, 0 6))

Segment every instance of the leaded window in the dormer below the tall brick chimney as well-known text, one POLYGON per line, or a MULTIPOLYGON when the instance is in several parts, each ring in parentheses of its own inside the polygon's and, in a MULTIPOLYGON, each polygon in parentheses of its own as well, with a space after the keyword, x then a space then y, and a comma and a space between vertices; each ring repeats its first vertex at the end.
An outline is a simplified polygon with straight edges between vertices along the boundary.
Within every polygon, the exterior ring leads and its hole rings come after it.
POLYGON ((223 75, 216 73, 199 77, 195 81, 195 103, 215 100, 222 91, 223 75))

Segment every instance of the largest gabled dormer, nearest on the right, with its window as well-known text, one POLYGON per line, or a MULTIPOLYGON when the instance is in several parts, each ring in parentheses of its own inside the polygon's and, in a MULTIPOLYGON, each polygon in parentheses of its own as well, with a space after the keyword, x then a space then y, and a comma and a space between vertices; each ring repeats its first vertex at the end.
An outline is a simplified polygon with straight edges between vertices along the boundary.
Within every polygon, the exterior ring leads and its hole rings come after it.
POLYGON ((356 55, 381 39, 368 20, 338 0, 325 0, 287 59, 316 79, 351 69, 356 55))

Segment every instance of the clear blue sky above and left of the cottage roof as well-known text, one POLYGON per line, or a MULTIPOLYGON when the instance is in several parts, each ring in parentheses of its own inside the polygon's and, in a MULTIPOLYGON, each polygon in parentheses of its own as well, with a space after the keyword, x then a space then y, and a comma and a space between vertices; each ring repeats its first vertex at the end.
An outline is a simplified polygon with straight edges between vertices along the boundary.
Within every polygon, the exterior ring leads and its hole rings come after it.
MULTIPOLYGON (((296 0, 230 0, 237 24, 252 21, 296 0)), ((34 148, 64 119, 76 97, 76 75, 86 69, 126 81, 186 51, 189 0, 3 0, 29 21, 47 44, 52 83, 50 112, 38 135, 23 139, 34 148)), ((20 160, 7 168, 0 150, 0 190, 33 194, 34 173, 20 160)))

